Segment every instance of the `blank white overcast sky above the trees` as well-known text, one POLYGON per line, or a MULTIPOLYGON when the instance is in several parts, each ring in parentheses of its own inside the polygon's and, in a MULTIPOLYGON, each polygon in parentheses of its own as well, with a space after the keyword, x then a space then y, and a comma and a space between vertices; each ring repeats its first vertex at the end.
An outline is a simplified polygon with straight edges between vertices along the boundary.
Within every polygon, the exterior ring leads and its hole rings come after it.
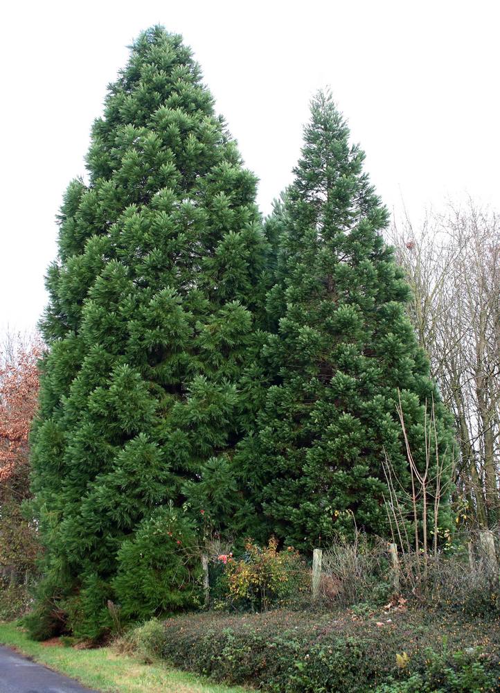
POLYGON ((34 328, 44 308, 62 193, 140 30, 163 24, 192 46, 262 211, 330 85, 384 202, 418 218, 466 193, 500 207, 499 20, 495 0, 3 3, 0 332, 34 328))

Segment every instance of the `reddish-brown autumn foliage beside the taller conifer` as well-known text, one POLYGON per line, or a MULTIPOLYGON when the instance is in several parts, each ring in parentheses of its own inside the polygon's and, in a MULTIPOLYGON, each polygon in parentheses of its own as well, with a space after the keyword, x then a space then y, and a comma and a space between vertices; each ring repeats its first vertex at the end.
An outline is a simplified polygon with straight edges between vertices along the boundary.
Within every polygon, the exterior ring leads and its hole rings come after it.
POLYGON ((30 424, 37 407, 42 343, 8 337, 0 354, 0 577, 33 567, 36 532, 21 504, 30 497, 30 424))

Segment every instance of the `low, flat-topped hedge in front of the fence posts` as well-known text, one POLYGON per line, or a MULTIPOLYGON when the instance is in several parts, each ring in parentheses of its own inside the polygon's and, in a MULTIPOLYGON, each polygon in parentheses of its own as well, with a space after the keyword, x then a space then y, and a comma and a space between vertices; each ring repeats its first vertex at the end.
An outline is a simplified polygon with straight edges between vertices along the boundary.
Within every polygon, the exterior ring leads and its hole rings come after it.
POLYGON ((434 618, 202 614, 149 622, 135 637, 176 667, 274 693, 499 690, 498 623, 434 618))

